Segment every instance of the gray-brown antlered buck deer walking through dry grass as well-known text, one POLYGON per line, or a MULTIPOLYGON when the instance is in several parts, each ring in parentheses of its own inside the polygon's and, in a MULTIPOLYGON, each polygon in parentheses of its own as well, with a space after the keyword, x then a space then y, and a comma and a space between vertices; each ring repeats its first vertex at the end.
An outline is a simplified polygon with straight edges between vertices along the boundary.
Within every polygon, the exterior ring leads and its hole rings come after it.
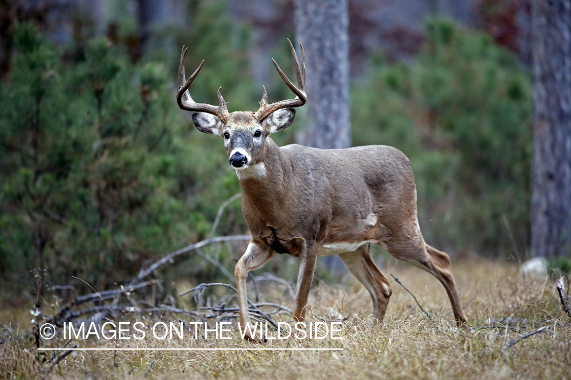
MULTIPOLYGON (((470 334, 452 275, 451 261, 443 251, 424 242, 417 218, 415 178, 408 158, 386 145, 346 149, 316 149, 301 145, 278 147, 270 135, 292 124, 295 108, 307 101, 305 52, 300 43, 301 66, 291 49, 297 86, 278 66, 293 99, 268 104, 263 87, 256 112, 228 113, 218 89, 219 105, 196 103, 188 88, 203 67, 186 79, 183 46, 178 70, 176 101, 192 112, 203 133, 222 137, 228 160, 242 187, 242 213, 252 239, 238 260, 234 275, 238 290, 239 327, 250 324, 246 277, 279 254, 299 261, 293 318, 305 320, 316 260, 339 255, 349 272, 372 298, 373 318, 382 322, 392 294, 391 283, 372 258, 372 243, 394 258, 407 261, 435 276, 448 294, 459 328, 470 334)), ((251 338, 246 336, 247 338, 251 338)))

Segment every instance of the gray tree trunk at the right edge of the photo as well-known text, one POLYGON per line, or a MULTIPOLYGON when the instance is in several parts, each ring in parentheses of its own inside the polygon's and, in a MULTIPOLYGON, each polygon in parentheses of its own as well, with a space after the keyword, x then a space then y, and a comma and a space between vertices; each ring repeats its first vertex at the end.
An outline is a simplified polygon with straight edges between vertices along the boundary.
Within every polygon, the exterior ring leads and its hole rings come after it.
POLYGON ((532 255, 571 251, 571 1, 532 2, 532 255))

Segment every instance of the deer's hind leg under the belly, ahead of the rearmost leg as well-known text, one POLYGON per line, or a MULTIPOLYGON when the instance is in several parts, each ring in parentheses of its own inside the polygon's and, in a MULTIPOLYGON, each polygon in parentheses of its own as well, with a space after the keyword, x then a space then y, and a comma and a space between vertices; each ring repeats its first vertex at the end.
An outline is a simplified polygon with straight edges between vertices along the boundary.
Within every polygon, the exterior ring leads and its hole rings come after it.
POLYGON ((382 322, 391 298, 391 283, 383 276, 371 257, 370 244, 364 244, 354 252, 340 254, 339 257, 349 272, 364 285, 373 300, 373 317, 382 322))

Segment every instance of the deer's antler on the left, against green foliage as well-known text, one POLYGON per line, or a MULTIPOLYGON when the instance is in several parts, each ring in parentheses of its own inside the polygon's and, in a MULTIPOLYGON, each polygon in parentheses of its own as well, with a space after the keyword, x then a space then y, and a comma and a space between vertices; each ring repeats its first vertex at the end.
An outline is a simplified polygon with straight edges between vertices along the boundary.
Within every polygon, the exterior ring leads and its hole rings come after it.
POLYGON ((178 91, 176 93, 176 103, 178 103, 180 109, 184 109, 185 111, 206 112, 217 116, 222 121, 226 121, 228 119, 228 107, 226 105, 226 101, 224 101, 224 98, 220 93, 220 89, 222 87, 218 89, 218 101, 220 103, 218 107, 206 103, 196 103, 194 100, 192 100, 190 92, 188 92, 188 88, 192 84, 192 81, 194 81, 196 75, 198 75, 200 72, 200 69, 202 69, 204 60, 202 60, 200 66, 198 66, 196 71, 192 73, 188 79, 186 79, 186 75, 184 75, 184 58, 186 57, 187 50, 188 48, 183 46, 182 52, 180 53, 179 71, 176 80, 178 87, 178 91))

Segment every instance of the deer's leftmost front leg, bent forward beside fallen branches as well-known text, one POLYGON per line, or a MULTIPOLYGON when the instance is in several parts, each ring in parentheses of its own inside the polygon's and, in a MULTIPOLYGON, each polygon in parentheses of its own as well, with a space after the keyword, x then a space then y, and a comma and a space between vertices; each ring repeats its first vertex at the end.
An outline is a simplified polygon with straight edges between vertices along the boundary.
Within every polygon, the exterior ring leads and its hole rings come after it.
POLYGON ((242 331, 246 328, 246 324, 250 323, 250 315, 248 315, 248 296, 246 293, 246 277, 248 272, 253 271, 266 265, 276 251, 272 250, 266 244, 256 242, 255 239, 250 240, 248 248, 244 255, 238 260, 234 268, 234 277, 236 278, 236 288, 238 288, 238 307, 240 309, 240 328, 242 331))

